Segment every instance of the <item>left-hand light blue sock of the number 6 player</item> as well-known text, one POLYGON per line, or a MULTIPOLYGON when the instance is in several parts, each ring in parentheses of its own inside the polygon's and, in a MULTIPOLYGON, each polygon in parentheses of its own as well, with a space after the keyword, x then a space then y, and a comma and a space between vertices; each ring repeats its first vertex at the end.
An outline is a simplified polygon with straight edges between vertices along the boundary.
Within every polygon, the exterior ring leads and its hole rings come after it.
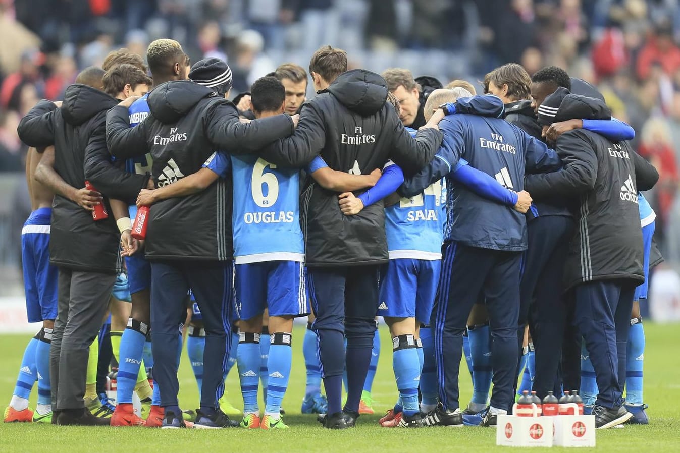
POLYGON ((260 334, 239 333, 239 348, 236 354, 243 394, 243 413, 260 414, 257 391, 260 384, 260 334))

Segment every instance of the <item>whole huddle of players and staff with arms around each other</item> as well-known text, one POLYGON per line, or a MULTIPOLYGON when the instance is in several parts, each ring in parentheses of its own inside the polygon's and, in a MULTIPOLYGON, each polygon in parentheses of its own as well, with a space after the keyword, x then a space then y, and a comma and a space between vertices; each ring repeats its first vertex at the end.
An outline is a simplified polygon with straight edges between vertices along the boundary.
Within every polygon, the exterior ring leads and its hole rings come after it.
POLYGON ((592 86, 556 67, 531 79, 509 64, 476 96, 466 81, 443 87, 405 69, 347 71, 345 52, 326 46, 309 65, 312 101, 306 71, 285 64, 231 103, 231 69, 218 58, 190 67, 179 43, 160 39, 147 62, 151 77, 139 56, 112 52, 103 69, 79 75, 63 103, 41 101, 19 126, 35 147, 27 163, 34 211, 22 231, 27 306, 29 321, 44 326, 24 353, 5 422, 286 429, 292 325, 302 316, 301 409, 326 428, 373 413, 377 316, 390 328, 398 388, 383 427, 495 426, 514 395, 532 388, 539 397, 580 388, 600 428, 647 422, 632 300, 646 297, 654 219, 638 190, 658 174, 592 86), (577 88, 585 91, 569 91, 577 88), (592 147, 590 168, 545 145, 560 135, 564 149, 592 147), (623 166, 600 170, 609 164, 599 162, 597 140, 623 166), (600 183, 624 173, 621 183, 600 183), (615 186, 613 202, 622 191, 630 204, 610 208, 630 223, 622 240, 590 230, 590 193, 602 184, 615 186), (93 220, 101 204, 109 218, 93 220), (151 206, 146 240, 133 237, 143 206, 151 206), (621 242, 630 250, 614 254, 614 270, 591 254, 621 242), (126 274, 117 274, 119 251, 126 274), (581 283, 600 281, 579 293, 581 283), (611 322, 594 325, 596 310, 579 304, 609 307, 611 322), (92 339, 107 307, 115 407, 92 380, 92 339), (570 321, 573 311, 587 320, 570 321), (201 393, 195 413, 177 400, 185 330, 201 393), (464 410, 462 352, 474 384, 464 410), (234 364, 242 413, 224 391, 234 364), (146 420, 133 410, 135 391, 146 420))

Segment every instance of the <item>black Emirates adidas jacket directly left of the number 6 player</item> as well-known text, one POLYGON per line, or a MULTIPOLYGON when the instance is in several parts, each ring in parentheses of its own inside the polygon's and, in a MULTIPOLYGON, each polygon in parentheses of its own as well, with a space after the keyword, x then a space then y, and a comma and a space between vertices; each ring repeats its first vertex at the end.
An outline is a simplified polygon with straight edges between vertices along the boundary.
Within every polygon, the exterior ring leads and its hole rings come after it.
MULTIPOLYGON (((148 97, 150 114, 130 128, 128 110, 111 109, 106 137, 116 158, 150 152, 152 177, 168 185, 196 173, 214 151, 253 152, 292 133, 288 115, 250 124, 239 122, 236 106, 192 81, 169 81, 148 97)), ((275 162, 274 162, 275 163, 275 162)), ((205 191, 154 204, 147 230, 148 259, 226 261, 233 255, 231 175, 205 191)))

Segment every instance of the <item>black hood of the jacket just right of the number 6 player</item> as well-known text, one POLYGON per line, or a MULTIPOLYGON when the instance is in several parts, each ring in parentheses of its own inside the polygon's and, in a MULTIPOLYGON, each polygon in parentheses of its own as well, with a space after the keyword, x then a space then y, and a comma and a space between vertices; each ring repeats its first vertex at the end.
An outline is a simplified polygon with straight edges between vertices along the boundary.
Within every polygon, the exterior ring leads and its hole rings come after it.
POLYGON ((338 76, 325 92, 333 94, 347 109, 363 116, 373 115, 387 101, 387 82, 379 74, 352 69, 338 76))

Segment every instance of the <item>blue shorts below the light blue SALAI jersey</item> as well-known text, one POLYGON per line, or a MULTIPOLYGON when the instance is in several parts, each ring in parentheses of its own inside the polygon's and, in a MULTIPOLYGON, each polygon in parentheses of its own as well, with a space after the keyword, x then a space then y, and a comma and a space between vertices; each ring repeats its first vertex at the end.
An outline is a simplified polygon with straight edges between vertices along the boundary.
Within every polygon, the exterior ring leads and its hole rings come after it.
POLYGON ((440 270, 438 259, 390 259, 380 279, 378 316, 430 323, 440 270))

